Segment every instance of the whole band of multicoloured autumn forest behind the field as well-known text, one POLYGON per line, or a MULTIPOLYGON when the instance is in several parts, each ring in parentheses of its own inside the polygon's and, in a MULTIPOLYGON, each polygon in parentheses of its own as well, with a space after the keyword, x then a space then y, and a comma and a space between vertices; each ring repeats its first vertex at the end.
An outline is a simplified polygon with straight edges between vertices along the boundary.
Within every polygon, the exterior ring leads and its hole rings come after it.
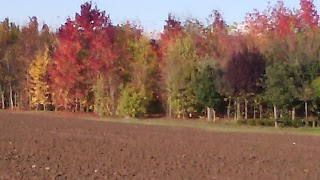
MULTIPOLYGON (((209 12, 210 13, 210 12, 209 12)), ((164 20, 157 38, 113 24, 92 2, 56 31, 0 23, 0 107, 99 116, 308 119, 320 113, 320 25, 313 0, 227 24, 164 20)))

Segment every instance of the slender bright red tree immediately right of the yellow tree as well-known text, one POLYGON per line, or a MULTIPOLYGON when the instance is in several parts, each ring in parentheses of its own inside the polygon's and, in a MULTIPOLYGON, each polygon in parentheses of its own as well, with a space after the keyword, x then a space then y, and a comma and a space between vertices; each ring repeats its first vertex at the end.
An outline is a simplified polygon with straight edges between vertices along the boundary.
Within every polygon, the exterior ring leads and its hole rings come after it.
POLYGON ((71 91, 75 86, 80 69, 76 53, 81 48, 80 43, 77 41, 76 26, 71 19, 68 19, 60 27, 56 38, 58 45, 49 67, 51 77, 50 91, 52 92, 52 101, 56 108, 60 106, 67 108, 67 104, 75 95, 71 91))

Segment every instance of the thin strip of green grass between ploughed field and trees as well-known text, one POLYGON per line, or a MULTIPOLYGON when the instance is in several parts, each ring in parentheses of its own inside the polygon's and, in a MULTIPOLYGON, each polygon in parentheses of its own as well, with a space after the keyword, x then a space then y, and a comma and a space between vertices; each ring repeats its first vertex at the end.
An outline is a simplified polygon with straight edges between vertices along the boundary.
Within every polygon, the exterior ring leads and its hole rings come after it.
MULTIPOLYGON (((16 113, 24 114, 50 114, 59 115, 56 112, 41 112, 41 111, 17 111, 16 113)), ((233 121, 224 123, 208 123, 204 119, 194 120, 177 120, 177 119, 135 119, 135 118, 105 118, 105 117, 81 117, 79 114, 76 116, 79 119, 113 122, 113 123, 126 123, 126 124, 139 124, 139 125, 152 125, 152 126, 167 126, 175 128, 194 128, 209 132, 235 132, 235 133, 268 133, 268 134, 295 134, 295 135, 320 135, 320 128, 274 128, 265 126, 246 126, 237 125, 233 121)))

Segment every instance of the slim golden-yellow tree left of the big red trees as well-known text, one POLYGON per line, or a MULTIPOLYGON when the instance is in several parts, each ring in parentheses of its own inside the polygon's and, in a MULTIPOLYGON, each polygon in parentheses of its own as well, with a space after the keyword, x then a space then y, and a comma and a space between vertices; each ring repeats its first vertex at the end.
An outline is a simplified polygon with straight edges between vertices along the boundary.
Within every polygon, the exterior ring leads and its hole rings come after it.
POLYGON ((49 59, 49 49, 45 47, 36 53, 35 59, 29 66, 30 100, 32 107, 36 107, 36 110, 38 110, 41 105, 43 105, 44 110, 46 109, 49 87, 45 77, 47 75, 49 59))

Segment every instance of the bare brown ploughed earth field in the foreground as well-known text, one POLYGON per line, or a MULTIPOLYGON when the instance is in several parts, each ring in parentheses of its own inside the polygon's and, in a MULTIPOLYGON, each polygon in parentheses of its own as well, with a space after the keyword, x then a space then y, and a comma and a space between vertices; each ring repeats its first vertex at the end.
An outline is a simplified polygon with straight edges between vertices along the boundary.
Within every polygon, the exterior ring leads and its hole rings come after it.
POLYGON ((0 111, 0 179, 320 179, 320 138, 0 111))

